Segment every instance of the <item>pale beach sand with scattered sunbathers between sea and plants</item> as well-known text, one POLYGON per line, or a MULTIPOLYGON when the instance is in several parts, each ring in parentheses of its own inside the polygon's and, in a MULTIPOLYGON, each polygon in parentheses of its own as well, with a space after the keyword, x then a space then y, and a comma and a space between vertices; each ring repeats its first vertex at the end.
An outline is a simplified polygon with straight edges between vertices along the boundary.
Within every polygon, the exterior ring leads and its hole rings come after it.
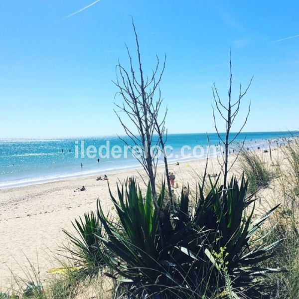
MULTIPOLYGON (((269 153, 261 154, 268 155, 269 160, 269 153)), ((231 160, 233 158, 232 155, 231 160)), ((204 159, 170 164, 169 170, 175 174, 178 183, 175 192, 179 193, 182 184, 187 182, 192 189, 204 166, 204 159)), ((234 167, 237 171, 238 164, 234 167)), ((157 181, 161 181, 163 171, 162 166, 158 167, 157 181)), ((219 172, 217 157, 210 158, 208 173, 219 172)), ((145 191, 140 175, 147 180, 141 169, 109 174, 112 192, 116 194, 117 182, 129 176, 136 177, 145 191)), ((72 231, 71 221, 83 216, 84 212, 95 211, 98 198, 108 212, 112 206, 108 183, 97 181, 96 176, 0 190, 0 288, 10 285, 10 271, 24 277, 23 270, 28 267, 28 261, 38 269, 43 280, 46 271, 55 266, 53 253, 66 243, 62 228, 72 231), (82 185, 86 191, 74 192, 82 185)))

